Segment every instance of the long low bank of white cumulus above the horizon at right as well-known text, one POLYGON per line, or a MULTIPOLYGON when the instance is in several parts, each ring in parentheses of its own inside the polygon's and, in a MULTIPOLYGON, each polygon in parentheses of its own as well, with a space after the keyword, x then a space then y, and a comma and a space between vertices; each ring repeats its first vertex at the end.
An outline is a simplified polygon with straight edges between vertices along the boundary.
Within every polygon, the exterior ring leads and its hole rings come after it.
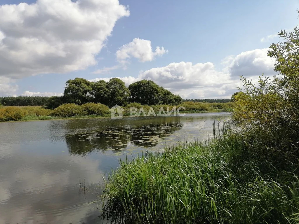
MULTIPOLYGON (((257 80, 264 73, 274 75, 274 62, 267 56, 268 49, 255 49, 227 56, 222 60, 223 68, 217 70, 212 62, 170 63, 164 67, 155 67, 141 72, 138 77, 121 77, 126 85, 142 79, 156 82, 184 99, 223 98, 228 99, 242 86, 241 75, 257 80)), ((108 81, 110 78, 104 78, 108 81)), ((99 81, 101 78, 90 81, 99 81)))

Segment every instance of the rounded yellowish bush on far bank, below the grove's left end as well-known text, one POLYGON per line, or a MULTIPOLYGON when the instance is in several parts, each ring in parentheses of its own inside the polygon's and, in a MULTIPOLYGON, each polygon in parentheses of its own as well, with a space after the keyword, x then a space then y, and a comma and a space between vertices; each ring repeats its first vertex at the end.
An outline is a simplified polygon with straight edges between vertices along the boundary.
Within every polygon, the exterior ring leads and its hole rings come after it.
POLYGON ((61 116, 61 117, 71 117, 77 115, 83 115, 83 108, 74 103, 62 104, 59 107, 55 108, 51 115, 52 116, 61 116))

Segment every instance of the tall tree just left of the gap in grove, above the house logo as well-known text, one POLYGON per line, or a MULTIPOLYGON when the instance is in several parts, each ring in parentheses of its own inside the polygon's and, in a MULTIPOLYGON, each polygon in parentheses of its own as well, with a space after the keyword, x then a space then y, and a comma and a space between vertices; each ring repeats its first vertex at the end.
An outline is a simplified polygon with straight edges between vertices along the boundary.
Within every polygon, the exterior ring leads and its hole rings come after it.
POLYGON ((107 105, 113 107, 115 104, 125 106, 128 103, 130 91, 125 83, 118 78, 112 78, 107 82, 108 100, 107 105))

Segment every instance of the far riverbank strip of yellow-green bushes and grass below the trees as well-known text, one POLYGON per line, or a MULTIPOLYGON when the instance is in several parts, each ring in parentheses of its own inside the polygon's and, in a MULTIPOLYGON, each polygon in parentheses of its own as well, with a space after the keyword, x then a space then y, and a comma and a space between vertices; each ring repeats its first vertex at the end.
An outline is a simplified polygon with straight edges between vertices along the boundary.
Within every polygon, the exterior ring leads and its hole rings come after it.
MULTIPOLYGON (((148 114, 150 107, 155 114, 158 114, 161 107, 167 113, 167 107, 171 110, 173 105, 141 105, 139 103, 130 103, 124 109, 123 116, 130 116, 130 108, 135 107, 138 111, 143 108, 145 114, 148 114)), ((205 102, 184 102, 177 105, 181 113, 209 113, 209 112, 231 112, 234 110, 235 103, 205 103, 205 102)), ((143 116, 141 113, 140 116, 143 116)), ((58 108, 45 109, 39 106, 2 106, 0 108, 0 122, 8 121, 30 121, 30 120, 49 120, 49 119, 78 119, 109 117, 109 108, 102 104, 88 103, 84 105, 64 104, 58 108)))

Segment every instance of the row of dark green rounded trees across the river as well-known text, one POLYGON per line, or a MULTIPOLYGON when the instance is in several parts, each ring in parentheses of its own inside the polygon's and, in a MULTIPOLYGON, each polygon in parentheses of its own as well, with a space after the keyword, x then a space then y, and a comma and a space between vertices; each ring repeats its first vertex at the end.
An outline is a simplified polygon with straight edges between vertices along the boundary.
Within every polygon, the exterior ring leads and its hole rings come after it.
POLYGON ((158 86, 151 80, 141 80, 126 87, 125 83, 112 78, 108 82, 100 80, 90 82, 83 78, 69 79, 63 96, 51 96, 47 108, 56 108, 63 103, 82 105, 88 102, 101 103, 108 107, 126 106, 130 102, 142 105, 178 105, 182 102, 179 95, 158 86))

